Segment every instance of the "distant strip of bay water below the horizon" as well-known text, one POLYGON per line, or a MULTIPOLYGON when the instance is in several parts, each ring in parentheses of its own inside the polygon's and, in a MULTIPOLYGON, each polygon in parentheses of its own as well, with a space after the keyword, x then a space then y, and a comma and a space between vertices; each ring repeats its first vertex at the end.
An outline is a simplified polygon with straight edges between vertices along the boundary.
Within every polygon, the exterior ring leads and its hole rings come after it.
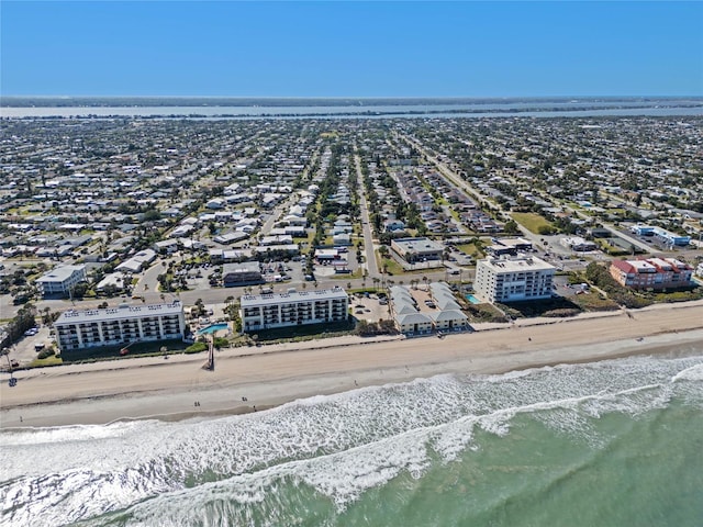
POLYGON ((32 117, 150 117, 150 119, 380 119, 380 117, 560 117, 618 115, 703 115, 703 99, 662 100, 466 100, 330 101, 198 99, 169 104, 170 99, 138 101, 122 99, 13 99, 3 98, 0 115, 32 117), (130 103, 132 102, 132 103, 130 103), (237 104, 238 102, 238 104, 237 104), (334 103, 333 103, 334 102, 334 103))

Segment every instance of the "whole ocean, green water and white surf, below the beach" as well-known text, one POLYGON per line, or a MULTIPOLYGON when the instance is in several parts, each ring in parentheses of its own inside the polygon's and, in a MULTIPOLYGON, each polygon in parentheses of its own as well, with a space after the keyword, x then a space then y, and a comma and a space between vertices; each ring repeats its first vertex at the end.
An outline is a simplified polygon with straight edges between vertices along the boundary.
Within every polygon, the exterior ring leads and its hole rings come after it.
POLYGON ((7 526, 700 526, 703 349, 0 433, 7 526))

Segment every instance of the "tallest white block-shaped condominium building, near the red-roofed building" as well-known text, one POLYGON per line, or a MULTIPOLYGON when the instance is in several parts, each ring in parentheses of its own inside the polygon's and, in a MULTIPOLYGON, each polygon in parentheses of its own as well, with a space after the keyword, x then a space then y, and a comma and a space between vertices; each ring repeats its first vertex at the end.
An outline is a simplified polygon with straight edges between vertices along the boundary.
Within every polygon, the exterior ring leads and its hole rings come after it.
POLYGON ((488 302, 518 302, 551 296, 555 267, 534 256, 479 260, 473 290, 488 302))

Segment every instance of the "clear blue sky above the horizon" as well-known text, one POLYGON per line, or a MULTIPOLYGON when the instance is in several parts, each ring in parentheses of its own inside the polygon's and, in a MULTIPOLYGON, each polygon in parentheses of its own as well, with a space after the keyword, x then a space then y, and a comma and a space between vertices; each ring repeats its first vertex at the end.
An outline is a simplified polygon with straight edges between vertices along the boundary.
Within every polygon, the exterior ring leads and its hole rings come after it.
POLYGON ((703 2, 29 2, 2 94, 703 96, 703 2))

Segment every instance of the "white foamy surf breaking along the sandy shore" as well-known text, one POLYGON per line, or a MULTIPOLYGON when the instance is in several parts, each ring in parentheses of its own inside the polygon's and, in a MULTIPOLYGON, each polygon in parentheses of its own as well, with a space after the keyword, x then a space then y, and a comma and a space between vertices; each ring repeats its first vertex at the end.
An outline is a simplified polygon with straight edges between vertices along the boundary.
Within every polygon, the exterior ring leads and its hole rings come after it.
POLYGON ((432 451, 449 461, 475 448, 477 427, 504 436, 522 414, 598 440, 593 419, 613 412, 636 417, 680 393, 700 394, 702 371, 703 357, 629 358, 440 375, 211 421, 2 433, 9 441, 0 519, 100 525, 122 511, 129 525, 217 524, 226 514, 247 523, 247 507, 275 502, 283 482, 344 507, 402 472, 421 476, 432 451))

